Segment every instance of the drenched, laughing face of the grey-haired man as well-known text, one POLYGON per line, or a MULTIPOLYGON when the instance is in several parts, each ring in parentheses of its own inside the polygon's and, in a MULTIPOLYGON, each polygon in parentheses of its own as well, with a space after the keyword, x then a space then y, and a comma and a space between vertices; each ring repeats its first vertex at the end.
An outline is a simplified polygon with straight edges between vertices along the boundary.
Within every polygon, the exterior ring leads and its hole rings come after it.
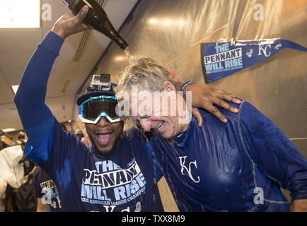
POLYGON ((168 84, 163 92, 139 89, 132 93, 132 119, 139 121, 144 131, 155 130, 166 139, 187 130, 189 123, 185 100, 168 84))

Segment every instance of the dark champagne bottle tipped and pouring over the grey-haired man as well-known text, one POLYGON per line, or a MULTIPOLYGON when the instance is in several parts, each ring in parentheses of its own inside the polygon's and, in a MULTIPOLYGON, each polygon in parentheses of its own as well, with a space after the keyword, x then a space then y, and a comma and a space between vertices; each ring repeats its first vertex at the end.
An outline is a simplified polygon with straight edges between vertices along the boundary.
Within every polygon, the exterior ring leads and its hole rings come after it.
POLYGON ((95 30, 103 33, 120 46, 121 49, 128 47, 118 32, 110 22, 107 13, 95 0, 62 0, 62 2, 74 13, 78 15, 84 5, 88 5, 88 14, 83 20, 83 23, 90 25, 95 30))

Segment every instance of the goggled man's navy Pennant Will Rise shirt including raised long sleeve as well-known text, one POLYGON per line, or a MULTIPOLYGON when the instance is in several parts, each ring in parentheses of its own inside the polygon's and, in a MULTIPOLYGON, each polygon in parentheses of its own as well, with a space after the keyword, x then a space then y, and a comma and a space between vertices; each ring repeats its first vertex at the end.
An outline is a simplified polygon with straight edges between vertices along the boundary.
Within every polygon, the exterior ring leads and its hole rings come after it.
POLYGON ((28 136, 24 155, 52 178, 62 211, 163 211, 154 165, 135 130, 100 155, 66 133, 45 104, 47 81, 64 40, 49 32, 25 67, 14 97, 28 136))

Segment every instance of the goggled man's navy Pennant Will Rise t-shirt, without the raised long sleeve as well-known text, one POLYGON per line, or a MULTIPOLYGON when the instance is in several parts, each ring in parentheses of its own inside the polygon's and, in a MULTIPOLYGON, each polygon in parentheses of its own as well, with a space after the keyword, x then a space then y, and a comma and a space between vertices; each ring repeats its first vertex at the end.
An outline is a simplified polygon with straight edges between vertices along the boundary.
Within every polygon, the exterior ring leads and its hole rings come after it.
POLYGON ((135 129, 124 131, 104 157, 55 121, 35 147, 25 145, 24 155, 53 179, 62 211, 163 211, 152 159, 134 133, 135 129))

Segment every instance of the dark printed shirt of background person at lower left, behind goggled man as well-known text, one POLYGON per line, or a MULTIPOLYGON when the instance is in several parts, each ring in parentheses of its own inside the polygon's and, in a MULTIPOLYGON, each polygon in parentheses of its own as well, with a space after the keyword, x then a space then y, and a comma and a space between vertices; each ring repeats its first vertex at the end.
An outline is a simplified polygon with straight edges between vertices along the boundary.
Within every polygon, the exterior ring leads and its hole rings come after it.
POLYGON ((42 198, 42 204, 49 205, 51 212, 61 211, 61 199, 57 186, 42 168, 37 166, 33 172, 35 197, 42 198))

